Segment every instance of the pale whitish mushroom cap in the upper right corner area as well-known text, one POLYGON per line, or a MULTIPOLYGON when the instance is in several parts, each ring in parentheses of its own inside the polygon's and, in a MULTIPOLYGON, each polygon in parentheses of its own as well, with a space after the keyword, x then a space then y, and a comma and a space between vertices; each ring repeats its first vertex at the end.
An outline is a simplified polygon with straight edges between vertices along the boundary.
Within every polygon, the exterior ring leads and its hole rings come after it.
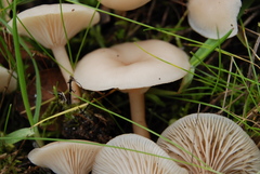
POLYGON ((187 19, 191 27, 199 35, 219 39, 233 31, 229 38, 237 34, 237 15, 242 6, 240 0, 188 0, 187 19))

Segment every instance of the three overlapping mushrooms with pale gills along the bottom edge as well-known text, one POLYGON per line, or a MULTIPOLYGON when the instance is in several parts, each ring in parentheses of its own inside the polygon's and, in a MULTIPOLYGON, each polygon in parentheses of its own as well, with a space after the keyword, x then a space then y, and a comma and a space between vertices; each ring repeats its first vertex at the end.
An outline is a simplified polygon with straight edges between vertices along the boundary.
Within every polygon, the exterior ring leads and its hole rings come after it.
POLYGON ((157 143, 122 134, 106 145, 55 142, 36 148, 29 160, 58 174, 256 174, 260 151, 232 120, 192 113, 169 125, 157 143))

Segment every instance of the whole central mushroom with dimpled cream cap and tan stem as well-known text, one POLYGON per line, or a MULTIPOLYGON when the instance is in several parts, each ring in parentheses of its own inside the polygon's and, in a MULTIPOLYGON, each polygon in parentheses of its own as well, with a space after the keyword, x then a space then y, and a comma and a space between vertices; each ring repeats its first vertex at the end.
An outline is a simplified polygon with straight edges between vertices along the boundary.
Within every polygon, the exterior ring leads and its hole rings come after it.
MULTIPOLYGON (((75 69, 75 79, 87 90, 115 88, 128 92, 132 121, 147 128, 144 93, 152 85, 184 77, 188 68, 185 52, 165 41, 146 40, 87 54, 75 69)), ((150 137, 146 130, 135 124, 133 132, 150 137)))

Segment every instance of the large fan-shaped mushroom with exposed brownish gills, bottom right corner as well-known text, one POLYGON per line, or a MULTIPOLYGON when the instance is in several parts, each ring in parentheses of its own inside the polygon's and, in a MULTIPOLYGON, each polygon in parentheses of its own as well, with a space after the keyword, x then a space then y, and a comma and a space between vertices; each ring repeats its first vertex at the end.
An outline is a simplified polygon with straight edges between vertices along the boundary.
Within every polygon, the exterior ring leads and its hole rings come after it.
MULTIPOLYGON (((171 158, 205 166, 220 173, 260 171, 260 151, 251 138, 232 120, 216 113, 192 113, 168 126, 161 136, 195 157, 159 138, 157 144, 171 158)), ((206 169, 179 163, 192 173, 208 174, 206 169)))

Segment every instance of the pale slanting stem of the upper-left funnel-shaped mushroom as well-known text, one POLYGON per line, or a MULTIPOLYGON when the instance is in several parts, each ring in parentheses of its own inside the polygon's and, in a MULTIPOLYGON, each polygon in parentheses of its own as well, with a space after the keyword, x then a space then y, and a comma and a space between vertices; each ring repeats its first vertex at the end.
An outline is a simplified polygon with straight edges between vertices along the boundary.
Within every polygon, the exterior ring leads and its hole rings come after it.
MULTIPOLYGON (((63 45, 54 46, 54 48, 52 48, 52 52, 58 64, 61 71, 62 71, 63 78, 67 83, 67 88, 69 89, 70 76, 74 75, 74 70, 73 70, 72 64, 69 62, 65 46, 63 46, 63 45)), ((70 95, 72 103, 73 104, 79 103, 79 99, 77 98, 77 96, 80 96, 79 86, 77 85, 77 83, 75 81, 72 81, 70 88, 73 90, 72 92, 74 93, 74 95, 70 95)))

